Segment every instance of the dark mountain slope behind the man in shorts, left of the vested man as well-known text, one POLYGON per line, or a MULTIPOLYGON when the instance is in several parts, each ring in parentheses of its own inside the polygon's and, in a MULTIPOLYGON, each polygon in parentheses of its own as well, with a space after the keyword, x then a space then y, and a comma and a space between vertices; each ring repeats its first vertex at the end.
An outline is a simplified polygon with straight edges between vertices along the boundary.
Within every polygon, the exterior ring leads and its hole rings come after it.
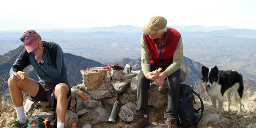
MULTIPOLYGON (((14 64, 15 60, 24 48, 24 45, 20 45, 18 48, 9 51, 3 56, 0 55, 0 76, 2 74, 7 74, 9 78, 9 71, 11 69, 11 66, 14 64)), ((71 53, 63 54, 67 66, 67 72, 69 74, 68 83, 71 85, 71 87, 77 86, 78 84, 82 83, 83 78, 80 70, 86 70, 90 67, 101 67, 102 65, 97 61, 87 59, 81 56, 76 56, 71 53)), ((36 72, 34 71, 34 68, 31 65, 23 69, 23 71, 25 72, 25 75, 27 75, 29 78, 39 80, 36 72)))

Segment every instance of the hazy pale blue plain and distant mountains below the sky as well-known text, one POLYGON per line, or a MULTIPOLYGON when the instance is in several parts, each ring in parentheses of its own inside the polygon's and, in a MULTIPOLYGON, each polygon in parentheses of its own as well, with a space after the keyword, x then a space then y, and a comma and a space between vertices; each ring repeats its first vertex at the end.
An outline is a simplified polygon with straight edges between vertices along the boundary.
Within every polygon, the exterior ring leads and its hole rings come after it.
MULTIPOLYGON (((184 56, 211 68, 236 70, 256 80, 256 31, 229 27, 170 26, 182 36, 184 56)), ((142 27, 113 26, 37 30, 44 41, 56 42, 63 52, 99 63, 138 59, 142 27)), ((22 31, 0 31, 0 54, 20 46, 22 31), (11 44, 11 45, 7 45, 11 44)))

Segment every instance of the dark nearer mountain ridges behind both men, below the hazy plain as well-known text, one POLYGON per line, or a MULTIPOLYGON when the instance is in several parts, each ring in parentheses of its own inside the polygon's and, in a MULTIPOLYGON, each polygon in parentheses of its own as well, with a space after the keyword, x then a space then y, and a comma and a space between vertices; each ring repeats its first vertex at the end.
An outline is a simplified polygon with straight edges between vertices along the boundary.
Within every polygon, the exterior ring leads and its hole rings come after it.
MULTIPOLYGON (((18 48, 10 50, 8 53, 5 53, 3 56, 0 55, 0 76, 1 74, 9 74, 11 66, 24 48, 25 47, 23 45, 20 45, 18 48)), ((71 53, 64 53, 64 58, 67 66, 69 84, 71 84, 72 87, 82 83, 82 75, 80 73, 80 70, 86 70, 90 67, 101 67, 102 65, 97 61, 86 59, 81 56, 76 56, 71 53)), ((129 64, 131 67, 133 67, 133 71, 141 69, 140 57, 138 59, 124 58, 105 64, 118 64, 122 67, 125 67, 126 64, 129 64)), ((195 65, 201 66, 203 64, 200 64, 184 56, 184 63, 182 64, 182 66, 187 70, 188 74, 195 74, 187 76, 185 82, 188 84, 193 84, 199 80, 199 78, 196 78, 196 76, 199 76, 198 72, 200 68, 195 67, 195 65)), ((29 78, 38 80, 38 76, 31 65, 26 67, 23 71, 25 72, 25 75, 29 76, 29 78)))

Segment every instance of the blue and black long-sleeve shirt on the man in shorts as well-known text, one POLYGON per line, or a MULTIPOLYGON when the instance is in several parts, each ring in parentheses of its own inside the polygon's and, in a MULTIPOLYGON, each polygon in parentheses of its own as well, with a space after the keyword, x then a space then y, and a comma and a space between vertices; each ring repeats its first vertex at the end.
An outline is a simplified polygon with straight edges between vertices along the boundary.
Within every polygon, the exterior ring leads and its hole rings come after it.
POLYGON ((54 42, 42 42, 44 44, 42 58, 45 60, 45 63, 39 65, 37 60, 35 60, 35 53, 28 53, 24 49, 12 65, 10 75, 12 72, 22 71, 31 64, 41 82, 68 82, 67 68, 62 49, 54 42))

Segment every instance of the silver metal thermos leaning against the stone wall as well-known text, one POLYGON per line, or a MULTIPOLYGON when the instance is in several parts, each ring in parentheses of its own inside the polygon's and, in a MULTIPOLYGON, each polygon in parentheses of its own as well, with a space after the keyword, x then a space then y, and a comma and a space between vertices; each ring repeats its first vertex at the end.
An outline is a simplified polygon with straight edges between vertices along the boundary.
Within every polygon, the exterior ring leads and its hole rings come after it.
POLYGON ((116 99, 116 101, 110 106, 109 119, 108 119, 109 123, 116 123, 116 118, 119 113, 120 106, 121 104, 118 99, 116 99))

